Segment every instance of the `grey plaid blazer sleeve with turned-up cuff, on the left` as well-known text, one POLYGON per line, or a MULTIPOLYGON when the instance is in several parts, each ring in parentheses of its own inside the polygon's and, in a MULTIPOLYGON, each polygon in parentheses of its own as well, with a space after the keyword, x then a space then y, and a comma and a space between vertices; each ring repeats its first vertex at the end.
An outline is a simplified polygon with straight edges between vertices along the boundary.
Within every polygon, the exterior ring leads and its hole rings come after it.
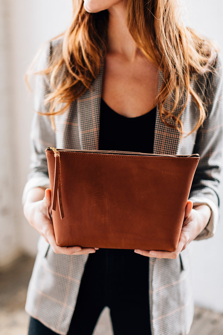
MULTIPOLYGON (((35 72, 49 66, 52 54, 51 42, 41 51, 35 72)), ((22 202, 25 202, 27 192, 34 187, 49 187, 48 168, 45 155, 47 146, 55 147, 55 132, 52 129, 51 119, 39 113, 49 112, 50 104, 44 105, 44 99, 50 93, 49 78, 43 74, 35 74, 34 114, 30 131, 31 164, 27 183, 25 184, 22 202)))

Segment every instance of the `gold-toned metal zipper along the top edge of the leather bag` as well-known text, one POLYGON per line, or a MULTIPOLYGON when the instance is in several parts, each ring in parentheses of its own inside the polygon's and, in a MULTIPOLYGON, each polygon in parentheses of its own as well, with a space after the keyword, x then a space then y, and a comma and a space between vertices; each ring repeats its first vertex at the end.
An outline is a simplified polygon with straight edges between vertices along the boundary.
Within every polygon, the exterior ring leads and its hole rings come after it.
POLYGON ((80 149, 57 149, 54 147, 47 147, 46 150, 52 150, 54 156, 60 156, 60 151, 65 152, 87 152, 87 153, 105 153, 105 154, 125 154, 125 155, 137 155, 137 156, 161 156, 161 157, 199 157, 198 153, 193 153, 192 155, 166 155, 166 154, 156 154, 156 153, 142 153, 142 152, 130 152, 130 151, 110 151, 110 150, 80 150, 80 149))

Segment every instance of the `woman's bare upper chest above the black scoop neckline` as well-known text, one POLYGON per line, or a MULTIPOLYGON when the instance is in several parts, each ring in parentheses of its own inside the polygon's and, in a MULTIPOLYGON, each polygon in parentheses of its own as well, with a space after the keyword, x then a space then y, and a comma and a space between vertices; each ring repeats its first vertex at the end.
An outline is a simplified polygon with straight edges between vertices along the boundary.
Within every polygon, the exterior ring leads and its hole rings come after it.
POLYGON ((138 117, 155 106, 158 69, 147 59, 127 61, 118 55, 105 59, 102 97, 117 113, 138 117))

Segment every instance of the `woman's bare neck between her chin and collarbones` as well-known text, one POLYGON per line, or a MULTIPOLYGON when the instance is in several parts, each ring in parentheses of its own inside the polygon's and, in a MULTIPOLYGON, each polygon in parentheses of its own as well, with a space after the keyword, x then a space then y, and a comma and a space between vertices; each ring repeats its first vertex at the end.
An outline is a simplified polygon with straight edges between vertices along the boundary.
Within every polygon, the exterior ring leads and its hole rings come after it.
POLYGON ((108 53, 121 54, 129 61, 141 54, 127 27, 125 1, 109 8, 108 53))

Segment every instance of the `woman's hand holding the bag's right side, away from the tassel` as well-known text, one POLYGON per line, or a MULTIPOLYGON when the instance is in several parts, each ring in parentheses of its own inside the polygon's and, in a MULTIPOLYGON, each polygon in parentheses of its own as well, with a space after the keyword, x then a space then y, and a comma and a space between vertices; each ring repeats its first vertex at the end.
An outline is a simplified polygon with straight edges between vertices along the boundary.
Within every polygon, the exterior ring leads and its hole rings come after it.
POLYGON ((211 216, 208 205, 199 205, 193 208, 193 202, 188 201, 185 209, 184 222, 177 249, 173 252, 157 250, 135 250, 135 253, 156 258, 176 259, 180 252, 193 241, 207 225, 211 216))

